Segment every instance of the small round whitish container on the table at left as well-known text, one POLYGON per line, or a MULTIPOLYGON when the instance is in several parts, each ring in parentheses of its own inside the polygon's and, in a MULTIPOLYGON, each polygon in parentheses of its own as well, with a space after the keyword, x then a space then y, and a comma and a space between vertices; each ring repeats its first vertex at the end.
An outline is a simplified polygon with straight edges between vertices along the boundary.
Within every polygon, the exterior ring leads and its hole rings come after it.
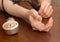
POLYGON ((8 35, 13 35, 19 31, 19 23, 13 18, 8 18, 8 20, 2 25, 3 30, 8 35))

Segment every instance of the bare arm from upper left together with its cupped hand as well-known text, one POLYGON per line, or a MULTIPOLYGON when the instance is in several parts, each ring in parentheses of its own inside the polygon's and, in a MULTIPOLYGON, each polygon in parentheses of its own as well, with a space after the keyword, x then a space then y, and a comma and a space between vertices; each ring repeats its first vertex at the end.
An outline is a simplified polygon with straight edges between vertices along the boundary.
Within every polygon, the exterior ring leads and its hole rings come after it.
POLYGON ((42 17, 38 14, 38 12, 34 9, 32 10, 28 10, 25 9, 17 4, 13 4, 12 1, 10 0, 4 0, 4 8, 6 10, 7 13, 9 13, 10 15, 13 16, 17 16, 20 18, 23 18, 25 20, 28 20, 27 22, 30 22, 31 26, 33 28, 36 28, 37 30, 42 30, 44 31, 45 29, 47 29, 47 27, 51 27, 51 23, 52 23, 52 19, 50 19, 48 22, 48 26, 45 26, 41 21, 42 21, 42 17))

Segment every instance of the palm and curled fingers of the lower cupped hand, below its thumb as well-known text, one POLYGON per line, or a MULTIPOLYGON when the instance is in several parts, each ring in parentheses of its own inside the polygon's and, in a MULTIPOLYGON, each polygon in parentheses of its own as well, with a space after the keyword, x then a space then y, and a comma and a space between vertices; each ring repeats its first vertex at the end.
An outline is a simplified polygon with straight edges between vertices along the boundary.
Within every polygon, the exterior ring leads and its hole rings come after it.
POLYGON ((39 30, 39 31, 45 31, 48 32, 52 25, 53 25, 53 19, 52 17, 48 20, 48 22, 43 24, 41 21, 38 21, 36 19, 33 19, 33 17, 30 16, 31 26, 33 30, 39 30))

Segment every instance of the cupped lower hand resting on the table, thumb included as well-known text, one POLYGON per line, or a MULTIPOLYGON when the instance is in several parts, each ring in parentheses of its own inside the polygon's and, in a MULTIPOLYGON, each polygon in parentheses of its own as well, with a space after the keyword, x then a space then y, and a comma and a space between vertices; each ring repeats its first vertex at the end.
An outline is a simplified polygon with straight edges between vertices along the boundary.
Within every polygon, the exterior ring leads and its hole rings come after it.
POLYGON ((48 32, 53 25, 52 17, 49 18, 46 24, 42 23, 42 17, 37 11, 31 10, 29 15, 29 21, 33 30, 46 31, 48 32))

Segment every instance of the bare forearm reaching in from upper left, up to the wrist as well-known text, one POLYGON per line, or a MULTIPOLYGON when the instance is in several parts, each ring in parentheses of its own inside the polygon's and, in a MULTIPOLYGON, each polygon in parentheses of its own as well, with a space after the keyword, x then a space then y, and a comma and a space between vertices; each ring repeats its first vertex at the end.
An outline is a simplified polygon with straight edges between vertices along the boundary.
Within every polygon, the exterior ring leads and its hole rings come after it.
POLYGON ((28 9, 25 9, 17 4, 13 4, 13 2, 9 0, 4 0, 4 7, 10 15, 27 19, 28 9))

